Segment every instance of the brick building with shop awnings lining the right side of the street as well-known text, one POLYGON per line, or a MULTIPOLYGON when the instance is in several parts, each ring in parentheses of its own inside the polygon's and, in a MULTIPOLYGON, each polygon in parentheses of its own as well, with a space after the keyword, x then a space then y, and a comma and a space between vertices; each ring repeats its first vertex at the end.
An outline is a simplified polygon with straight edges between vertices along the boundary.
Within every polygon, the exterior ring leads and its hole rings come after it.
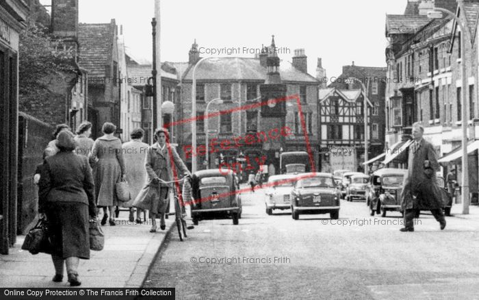
MULTIPOLYGON (((478 111, 478 27, 479 1, 409 1, 405 14, 387 15, 386 49, 389 79, 386 88, 386 145, 398 145, 411 134, 415 122, 425 127, 424 138, 432 143, 442 160, 443 173, 456 165, 461 177, 460 156, 449 160, 448 153, 461 151, 463 140, 461 106, 467 105, 468 140, 479 138, 478 111), (461 32, 449 16, 430 19, 432 8, 445 8, 465 21, 461 32), (465 38, 465 58, 461 41, 465 38), (462 73, 467 73, 467 99, 462 99, 462 73)), ((469 147, 468 147, 469 149, 469 147)), ((397 165, 394 161, 391 163, 397 165)), ((469 186, 478 192, 478 151, 469 153, 469 186)), ((474 194, 473 194, 474 195, 474 194)))

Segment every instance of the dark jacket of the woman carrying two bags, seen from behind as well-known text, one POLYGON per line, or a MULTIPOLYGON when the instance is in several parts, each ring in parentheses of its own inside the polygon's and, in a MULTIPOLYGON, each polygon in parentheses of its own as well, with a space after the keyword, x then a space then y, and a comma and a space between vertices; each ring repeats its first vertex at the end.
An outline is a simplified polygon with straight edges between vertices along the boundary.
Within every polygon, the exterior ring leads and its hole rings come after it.
POLYGON ((92 169, 85 156, 59 152, 44 160, 38 188, 38 212, 44 212, 47 202, 79 202, 96 216, 92 169))

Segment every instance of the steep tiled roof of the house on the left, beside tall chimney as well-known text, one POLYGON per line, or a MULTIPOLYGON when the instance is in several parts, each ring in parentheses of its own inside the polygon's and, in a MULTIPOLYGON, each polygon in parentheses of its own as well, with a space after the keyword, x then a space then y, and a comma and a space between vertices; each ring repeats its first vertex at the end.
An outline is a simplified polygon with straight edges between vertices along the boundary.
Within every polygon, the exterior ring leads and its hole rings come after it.
POLYGON ((105 66, 112 55, 114 21, 106 24, 80 23, 78 27, 79 64, 88 77, 105 77, 105 66))

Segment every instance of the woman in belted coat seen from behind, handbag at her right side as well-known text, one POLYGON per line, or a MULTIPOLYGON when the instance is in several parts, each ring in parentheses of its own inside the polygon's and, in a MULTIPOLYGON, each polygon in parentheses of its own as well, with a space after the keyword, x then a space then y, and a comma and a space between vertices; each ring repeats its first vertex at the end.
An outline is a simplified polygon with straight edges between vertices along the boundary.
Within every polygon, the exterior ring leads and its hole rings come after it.
POLYGON ((123 161, 121 141, 114 136, 116 126, 106 122, 103 124, 103 136, 93 144, 90 160, 94 161, 93 177, 95 182, 96 205, 103 208, 101 225, 107 223, 114 226, 114 210, 118 205, 115 185, 125 178, 125 162, 123 161))

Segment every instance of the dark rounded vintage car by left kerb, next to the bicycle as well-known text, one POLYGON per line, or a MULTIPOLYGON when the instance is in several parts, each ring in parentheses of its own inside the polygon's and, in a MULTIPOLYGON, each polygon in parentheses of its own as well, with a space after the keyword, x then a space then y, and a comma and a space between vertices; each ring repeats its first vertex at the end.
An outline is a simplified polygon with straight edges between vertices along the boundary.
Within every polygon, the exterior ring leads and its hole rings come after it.
POLYGON ((227 169, 197 171, 192 175, 191 216, 198 221, 216 216, 231 216, 238 225, 242 214, 241 197, 237 194, 235 173, 227 169))

